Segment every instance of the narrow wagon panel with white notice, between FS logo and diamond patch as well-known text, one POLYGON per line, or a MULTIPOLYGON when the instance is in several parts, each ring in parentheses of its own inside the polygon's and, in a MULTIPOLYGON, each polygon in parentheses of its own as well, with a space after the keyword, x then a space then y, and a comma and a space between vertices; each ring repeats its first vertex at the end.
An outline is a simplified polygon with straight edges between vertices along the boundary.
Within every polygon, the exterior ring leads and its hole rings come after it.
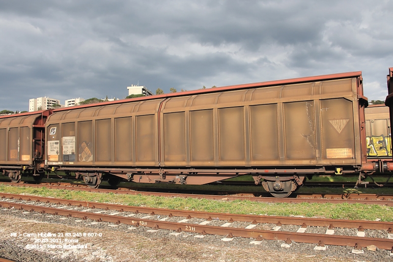
POLYGON ((76 161, 75 123, 62 123, 61 133, 61 154, 63 162, 74 163, 76 161))

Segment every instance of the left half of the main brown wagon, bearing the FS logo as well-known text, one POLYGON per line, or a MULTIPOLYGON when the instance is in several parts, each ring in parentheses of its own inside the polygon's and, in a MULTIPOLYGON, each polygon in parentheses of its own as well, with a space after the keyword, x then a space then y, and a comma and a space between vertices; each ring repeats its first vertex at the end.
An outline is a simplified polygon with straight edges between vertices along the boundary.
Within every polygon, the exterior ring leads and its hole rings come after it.
POLYGON ((55 112, 46 125, 47 165, 76 171, 92 187, 99 185, 103 173, 128 179, 126 170, 158 166, 163 99, 128 101, 55 112))

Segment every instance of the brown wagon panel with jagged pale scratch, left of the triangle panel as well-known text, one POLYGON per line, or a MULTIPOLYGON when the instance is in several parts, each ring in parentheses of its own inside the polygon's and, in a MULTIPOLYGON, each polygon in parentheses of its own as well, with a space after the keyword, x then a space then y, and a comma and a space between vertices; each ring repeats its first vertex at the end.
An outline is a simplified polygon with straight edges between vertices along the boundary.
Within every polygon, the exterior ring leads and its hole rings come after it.
POLYGON ((284 103, 285 156, 316 159, 313 101, 284 103))

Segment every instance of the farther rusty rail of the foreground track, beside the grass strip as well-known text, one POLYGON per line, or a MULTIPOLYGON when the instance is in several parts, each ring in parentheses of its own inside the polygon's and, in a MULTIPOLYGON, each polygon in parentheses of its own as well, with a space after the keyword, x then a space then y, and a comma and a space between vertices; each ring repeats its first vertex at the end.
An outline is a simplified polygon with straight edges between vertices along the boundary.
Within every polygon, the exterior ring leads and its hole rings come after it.
MULTIPOLYGON (((244 215, 244 214, 228 214, 228 213, 211 213, 193 210, 176 210, 166 208, 153 208, 130 206, 121 204, 106 204, 98 202, 87 202, 78 200, 63 200, 56 198, 46 198, 37 196, 27 196, 18 194, 0 193, 1 198, 46 202, 54 204, 65 204, 74 206, 84 206, 89 208, 112 209, 122 212, 146 213, 155 215, 168 215, 188 218, 203 218, 207 220, 219 219, 228 221, 257 223, 272 223, 284 225, 302 225, 329 228, 363 228, 370 230, 388 230, 393 233, 393 223, 383 221, 367 221, 367 220, 344 220, 344 219, 321 219, 306 217, 283 217, 283 216, 265 216, 265 215, 244 215)), ((2 203, 2 202, 0 202, 2 203)))

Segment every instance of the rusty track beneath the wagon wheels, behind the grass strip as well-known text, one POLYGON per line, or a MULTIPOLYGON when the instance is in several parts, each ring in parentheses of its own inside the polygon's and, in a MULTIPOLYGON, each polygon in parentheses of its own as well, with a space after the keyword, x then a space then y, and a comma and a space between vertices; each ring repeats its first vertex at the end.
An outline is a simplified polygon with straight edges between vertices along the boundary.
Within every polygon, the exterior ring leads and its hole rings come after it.
MULTIPOLYGON (((131 194, 143 196, 159 196, 159 197, 182 197, 182 198, 205 198, 210 200, 248 200, 255 202, 268 202, 268 203, 350 203, 350 204, 380 204, 393 206, 393 195, 381 194, 359 194, 359 193, 345 193, 345 194, 314 194, 302 193, 294 194, 291 198, 274 198, 274 197, 255 197, 253 194, 235 194, 235 195, 201 195, 201 194, 182 194, 182 193, 166 193, 166 192, 142 192, 133 191, 128 188, 118 189, 91 189, 84 184, 70 184, 70 183, 41 183, 41 184, 28 184, 28 183, 6 183, 0 182, 0 185, 11 185, 17 187, 46 187, 50 189, 64 189, 64 190, 77 190, 88 191, 97 193, 114 193, 114 194, 131 194)), ((268 196, 268 194, 266 194, 268 196)))

